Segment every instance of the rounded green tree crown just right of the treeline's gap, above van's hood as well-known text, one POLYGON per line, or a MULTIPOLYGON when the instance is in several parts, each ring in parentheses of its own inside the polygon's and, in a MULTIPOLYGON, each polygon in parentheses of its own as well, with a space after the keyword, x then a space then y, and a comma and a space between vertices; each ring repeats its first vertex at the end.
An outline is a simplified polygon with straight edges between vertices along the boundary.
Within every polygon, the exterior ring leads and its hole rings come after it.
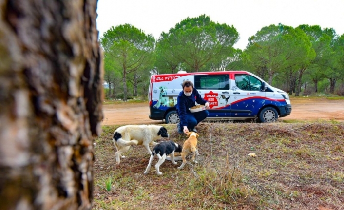
POLYGON ((244 62, 256 71, 264 70, 261 74, 268 74, 270 84, 274 76, 287 71, 292 75, 313 58, 306 34, 282 24, 263 27, 249 38, 244 53, 244 62))

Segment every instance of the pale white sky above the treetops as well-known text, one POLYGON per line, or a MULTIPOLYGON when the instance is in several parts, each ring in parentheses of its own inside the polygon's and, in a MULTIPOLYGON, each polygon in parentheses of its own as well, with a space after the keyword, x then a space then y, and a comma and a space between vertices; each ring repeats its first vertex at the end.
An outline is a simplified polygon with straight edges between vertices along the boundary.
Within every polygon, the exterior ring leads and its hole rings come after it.
POLYGON ((344 34, 344 0, 98 0, 97 14, 99 37, 128 23, 155 39, 183 19, 205 14, 233 25, 240 37, 234 47, 242 50, 249 37, 271 24, 319 25, 344 34))

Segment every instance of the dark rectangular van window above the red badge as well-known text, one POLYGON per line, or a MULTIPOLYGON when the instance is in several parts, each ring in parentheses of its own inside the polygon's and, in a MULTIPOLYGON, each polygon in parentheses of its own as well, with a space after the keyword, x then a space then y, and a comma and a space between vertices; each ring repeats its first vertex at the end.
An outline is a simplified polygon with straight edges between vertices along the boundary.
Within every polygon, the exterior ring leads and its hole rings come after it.
POLYGON ((229 74, 195 75, 194 84, 197 90, 229 90, 229 74))

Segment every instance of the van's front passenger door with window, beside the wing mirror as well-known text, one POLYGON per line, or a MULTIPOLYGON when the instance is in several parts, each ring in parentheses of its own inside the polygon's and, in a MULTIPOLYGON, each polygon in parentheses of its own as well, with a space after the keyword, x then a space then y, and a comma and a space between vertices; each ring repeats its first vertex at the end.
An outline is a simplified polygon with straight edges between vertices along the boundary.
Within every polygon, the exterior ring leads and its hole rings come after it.
POLYGON ((266 92, 262 90, 263 82, 248 74, 235 74, 234 79, 232 117, 255 117, 266 100, 266 92))

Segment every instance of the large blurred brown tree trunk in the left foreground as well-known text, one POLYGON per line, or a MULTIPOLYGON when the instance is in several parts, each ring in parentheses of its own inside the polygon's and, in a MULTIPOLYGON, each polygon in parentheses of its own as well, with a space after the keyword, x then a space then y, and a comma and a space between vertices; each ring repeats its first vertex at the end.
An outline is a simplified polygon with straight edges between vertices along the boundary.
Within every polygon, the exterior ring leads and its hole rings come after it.
POLYGON ((85 210, 101 130, 96 0, 0 0, 0 209, 85 210))

